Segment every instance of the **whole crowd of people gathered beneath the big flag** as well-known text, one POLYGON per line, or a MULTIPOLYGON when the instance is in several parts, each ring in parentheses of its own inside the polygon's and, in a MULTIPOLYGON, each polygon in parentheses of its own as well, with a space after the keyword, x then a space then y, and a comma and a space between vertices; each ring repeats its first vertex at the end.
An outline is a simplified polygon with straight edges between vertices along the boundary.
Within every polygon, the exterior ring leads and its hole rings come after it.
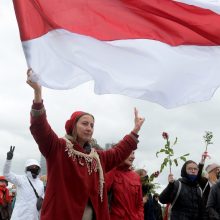
POLYGON ((207 155, 199 164, 186 161, 181 178, 170 173, 167 187, 152 193, 141 181, 149 179, 147 171, 133 167, 145 121, 136 109, 134 128, 109 150, 93 146, 95 118, 83 111, 71 115, 59 138, 47 121, 42 88, 30 76, 28 70, 30 131, 46 158, 47 176, 40 179, 34 159, 26 161, 23 175, 13 173, 11 146, 0 176, 0 220, 220 220, 220 165, 209 164, 204 175, 207 155))

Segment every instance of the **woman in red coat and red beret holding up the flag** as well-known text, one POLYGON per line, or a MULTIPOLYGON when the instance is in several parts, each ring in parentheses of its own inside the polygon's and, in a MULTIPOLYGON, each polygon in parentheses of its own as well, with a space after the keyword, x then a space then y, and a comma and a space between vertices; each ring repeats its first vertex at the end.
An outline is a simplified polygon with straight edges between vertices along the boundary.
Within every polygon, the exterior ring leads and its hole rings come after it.
POLYGON ((66 135, 58 138, 50 127, 41 96, 41 86, 34 89, 31 110, 31 133, 47 161, 47 188, 41 220, 108 220, 106 172, 119 165, 137 148, 137 133, 144 118, 135 110, 135 126, 115 147, 108 151, 91 148, 94 117, 74 112, 66 121, 66 135))

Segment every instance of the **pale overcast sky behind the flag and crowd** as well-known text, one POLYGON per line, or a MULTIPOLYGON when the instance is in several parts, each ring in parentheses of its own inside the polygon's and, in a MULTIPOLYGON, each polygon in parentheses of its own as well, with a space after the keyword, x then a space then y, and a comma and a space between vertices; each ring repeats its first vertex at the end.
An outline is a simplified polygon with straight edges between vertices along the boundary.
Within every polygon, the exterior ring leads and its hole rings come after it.
MULTIPOLYGON (((1 1, 0 12, 0 175, 10 145, 15 145, 12 170, 22 174, 29 158, 40 159, 38 147, 29 131, 29 113, 33 91, 26 84, 26 61, 22 51, 12 2, 1 1)), ((207 73, 208 74, 208 73, 207 73)), ((172 86, 172 85, 170 85, 172 86)), ((207 102, 190 104, 175 109, 165 109, 158 104, 136 100, 121 95, 95 95, 93 83, 88 82, 68 91, 43 88, 48 120, 62 137, 64 124, 73 111, 83 110, 95 116, 94 138, 101 146, 115 143, 133 128, 133 108, 146 118, 140 132, 135 166, 149 173, 159 170, 163 155, 155 153, 164 146, 162 132, 171 140, 178 137, 174 147, 176 156, 190 153, 190 159, 199 161, 205 144, 205 131, 212 131, 214 144, 209 147, 208 163, 220 163, 220 91, 207 102)), ((181 163, 182 165, 182 163, 181 163)), ((174 167, 179 177, 181 167, 174 167)), ((168 168, 157 182, 167 184, 168 168)))

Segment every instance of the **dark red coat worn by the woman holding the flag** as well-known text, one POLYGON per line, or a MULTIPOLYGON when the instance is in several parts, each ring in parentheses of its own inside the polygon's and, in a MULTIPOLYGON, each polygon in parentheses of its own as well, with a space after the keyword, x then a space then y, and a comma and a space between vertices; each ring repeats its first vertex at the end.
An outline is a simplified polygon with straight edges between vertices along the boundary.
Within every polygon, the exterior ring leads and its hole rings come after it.
MULTIPOLYGON (((33 109, 43 108, 35 103, 33 109)), ((86 165, 69 157, 66 141, 58 138, 46 120, 46 113, 31 116, 31 133, 47 161, 47 188, 41 220, 82 220, 88 200, 91 200, 96 220, 108 220, 107 191, 104 185, 103 201, 99 193, 99 172, 89 174, 86 165)), ((114 149, 98 151, 103 173, 124 161, 137 148, 137 140, 130 134, 114 149)), ((77 151, 84 152, 81 147, 77 151)))

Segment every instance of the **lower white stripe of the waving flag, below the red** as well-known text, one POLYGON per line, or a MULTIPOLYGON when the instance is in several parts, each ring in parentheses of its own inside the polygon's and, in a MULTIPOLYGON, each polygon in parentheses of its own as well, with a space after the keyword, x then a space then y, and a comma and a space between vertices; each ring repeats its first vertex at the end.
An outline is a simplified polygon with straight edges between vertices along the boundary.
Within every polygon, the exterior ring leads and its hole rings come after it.
POLYGON ((97 94, 123 94, 172 108, 207 100, 220 84, 220 46, 102 42, 59 29, 23 42, 23 48, 41 85, 53 89, 94 80, 97 94))

